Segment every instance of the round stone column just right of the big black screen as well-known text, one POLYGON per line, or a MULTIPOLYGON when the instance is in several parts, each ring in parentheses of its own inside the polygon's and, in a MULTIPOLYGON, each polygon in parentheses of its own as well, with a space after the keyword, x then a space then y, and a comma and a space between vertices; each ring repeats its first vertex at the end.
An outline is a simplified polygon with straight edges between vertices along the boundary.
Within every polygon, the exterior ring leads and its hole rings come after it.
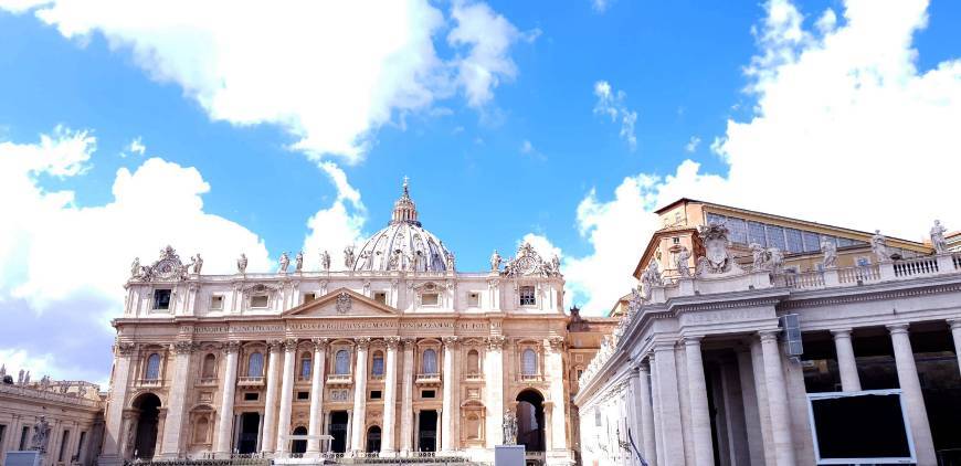
POLYGON ((915 441, 918 464, 937 465, 931 425, 928 424, 928 411, 925 407, 921 382, 918 380, 918 368, 915 366, 915 352, 911 350, 908 325, 890 325, 887 328, 891 332, 895 366, 898 369, 898 385, 901 388, 901 400, 904 400, 905 410, 908 412, 908 422, 911 423, 911 436, 915 441))

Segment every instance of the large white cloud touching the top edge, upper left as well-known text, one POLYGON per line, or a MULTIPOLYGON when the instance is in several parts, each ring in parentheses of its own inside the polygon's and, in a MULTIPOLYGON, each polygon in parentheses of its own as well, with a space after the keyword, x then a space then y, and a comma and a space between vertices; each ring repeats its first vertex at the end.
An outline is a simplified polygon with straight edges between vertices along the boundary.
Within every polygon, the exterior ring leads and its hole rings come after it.
POLYGON ((315 158, 356 161, 399 114, 429 109, 460 91, 493 98, 517 67, 525 38, 483 2, 127 2, 0 0, 66 38, 104 36, 159 82, 172 82, 214 119, 276 124, 315 158), (451 57, 435 40, 450 31, 451 57))

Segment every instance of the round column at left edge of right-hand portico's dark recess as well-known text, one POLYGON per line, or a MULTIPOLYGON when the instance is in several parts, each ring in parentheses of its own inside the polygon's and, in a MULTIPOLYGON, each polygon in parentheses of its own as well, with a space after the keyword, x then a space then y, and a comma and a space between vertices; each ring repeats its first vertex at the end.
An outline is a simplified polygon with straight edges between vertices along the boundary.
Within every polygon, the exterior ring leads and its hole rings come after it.
POLYGON ((710 411, 707 403, 707 381, 704 377, 701 337, 685 337, 687 389, 690 392, 690 421, 694 433, 694 457, 698 466, 714 465, 714 442, 710 436, 710 411))

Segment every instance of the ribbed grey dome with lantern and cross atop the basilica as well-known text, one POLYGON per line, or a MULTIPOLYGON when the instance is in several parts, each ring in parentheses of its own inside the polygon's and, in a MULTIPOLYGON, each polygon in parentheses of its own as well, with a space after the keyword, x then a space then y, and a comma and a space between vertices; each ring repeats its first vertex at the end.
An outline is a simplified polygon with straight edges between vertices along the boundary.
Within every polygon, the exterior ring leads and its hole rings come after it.
POLYGON ((418 209, 404 178, 403 193, 393 204, 390 223, 363 243, 353 271, 447 272, 453 268, 454 255, 418 220, 418 209))

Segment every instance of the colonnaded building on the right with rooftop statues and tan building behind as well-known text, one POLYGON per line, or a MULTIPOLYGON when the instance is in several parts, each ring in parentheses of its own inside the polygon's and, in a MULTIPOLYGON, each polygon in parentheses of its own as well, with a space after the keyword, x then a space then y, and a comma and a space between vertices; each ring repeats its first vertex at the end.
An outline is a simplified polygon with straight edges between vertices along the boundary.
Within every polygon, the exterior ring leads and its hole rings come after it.
POLYGON ((682 199, 580 379, 585 465, 961 460, 961 253, 682 199))

